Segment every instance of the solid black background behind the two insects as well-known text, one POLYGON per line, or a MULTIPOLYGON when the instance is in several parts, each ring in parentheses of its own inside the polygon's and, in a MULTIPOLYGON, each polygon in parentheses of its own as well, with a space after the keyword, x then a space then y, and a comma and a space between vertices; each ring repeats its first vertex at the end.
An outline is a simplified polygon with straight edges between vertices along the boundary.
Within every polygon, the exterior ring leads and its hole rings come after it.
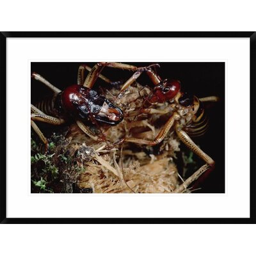
MULTIPOLYGON (((207 97, 215 95, 220 97, 220 102, 209 104, 207 113, 210 118, 210 126, 207 133, 195 141, 202 150, 216 162, 215 169, 209 174, 203 184, 202 189, 195 193, 224 193, 225 192, 225 63, 220 62, 157 62, 161 68, 157 68, 157 74, 162 79, 178 79, 182 84, 182 90, 192 93, 197 97, 207 97)), ((47 79, 54 86, 63 90, 71 84, 77 83, 77 70, 83 63, 31 63, 31 72, 36 72, 47 79)), ((93 67, 95 63, 86 63, 93 67)), ((150 65, 152 63, 129 63, 138 67, 150 65)), ((104 68, 102 74, 112 81, 125 81, 131 77, 132 72, 114 68, 104 68)), ((138 79, 142 84, 152 86, 152 82, 143 74, 138 79)), ((93 89, 99 86, 108 88, 108 84, 97 80, 93 89)), ((31 79, 31 103, 44 99, 46 95, 51 95, 44 84, 31 79)), ((184 146, 181 150, 186 150, 184 146)), ((179 159, 178 154, 178 159, 179 159)), ((200 159, 196 161, 200 162, 200 159)), ((179 161, 178 161, 179 162, 179 161)), ((179 163, 177 163, 179 164, 179 163)), ((202 162, 202 164, 204 164, 202 162)))

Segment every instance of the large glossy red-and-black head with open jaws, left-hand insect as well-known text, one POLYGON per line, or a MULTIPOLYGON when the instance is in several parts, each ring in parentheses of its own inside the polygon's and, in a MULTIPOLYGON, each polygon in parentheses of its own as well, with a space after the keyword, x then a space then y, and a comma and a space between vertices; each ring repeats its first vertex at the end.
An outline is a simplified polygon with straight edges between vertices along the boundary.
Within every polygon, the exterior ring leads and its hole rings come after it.
POLYGON ((97 92, 74 84, 61 93, 61 103, 66 113, 82 120, 95 120, 116 125, 124 118, 120 108, 97 92))

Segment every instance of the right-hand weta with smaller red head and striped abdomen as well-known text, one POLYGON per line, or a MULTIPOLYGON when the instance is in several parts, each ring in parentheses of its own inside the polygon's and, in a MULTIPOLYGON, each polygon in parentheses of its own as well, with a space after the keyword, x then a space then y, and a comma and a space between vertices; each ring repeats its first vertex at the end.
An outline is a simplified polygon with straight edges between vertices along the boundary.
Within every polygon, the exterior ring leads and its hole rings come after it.
MULTIPOLYGON (((143 140, 140 138, 125 137, 120 142, 138 143, 141 145, 154 146, 159 144, 165 138, 166 134, 174 129, 179 139, 196 155, 209 164, 214 166, 214 160, 205 154, 198 145, 191 140, 191 137, 202 136, 207 130, 208 118, 205 114, 202 102, 217 101, 218 97, 205 97, 198 99, 195 95, 189 95, 182 92, 180 81, 172 79, 162 80, 152 68, 145 70, 154 84, 154 89, 148 94, 145 99, 145 104, 149 104, 148 108, 142 106, 139 111, 134 111, 133 115, 138 116, 142 113, 165 115, 170 114, 170 117, 163 128, 157 134, 154 140, 143 140), (154 109, 152 106, 168 102, 165 109, 154 109)), ((131 85, 131 81, 135 81, 141 72, 135 72, 129 83, 122 86, 121 93, 124 92, 131 85)))

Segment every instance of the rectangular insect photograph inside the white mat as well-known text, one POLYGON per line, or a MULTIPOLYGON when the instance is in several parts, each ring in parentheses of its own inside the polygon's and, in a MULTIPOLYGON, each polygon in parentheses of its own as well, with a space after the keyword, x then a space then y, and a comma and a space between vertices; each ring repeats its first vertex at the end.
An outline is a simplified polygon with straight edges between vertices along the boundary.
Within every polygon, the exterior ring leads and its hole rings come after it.
POLYGON ((31 193, 225 193, 225 62, 31 62, 31 193))

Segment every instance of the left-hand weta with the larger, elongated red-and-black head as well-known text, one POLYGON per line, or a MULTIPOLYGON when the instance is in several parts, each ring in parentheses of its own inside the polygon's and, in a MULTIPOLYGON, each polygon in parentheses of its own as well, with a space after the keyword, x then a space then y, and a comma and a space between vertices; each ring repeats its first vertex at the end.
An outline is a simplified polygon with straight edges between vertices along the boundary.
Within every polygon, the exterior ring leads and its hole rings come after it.
MULTIPOLYGON (((100 129, 100 124, 116 125, 123 120, 122 109, 92 89, 98 77, 106 83, 111 83, 107 77, 100 74, 105 66, 132 71, 137 70, 137 74, 141 74, 141 72, 150 68, 137 68, 122 63, 97 63, 93 68, 88 67, 88 65, 81 65, 78 70, 77 84, 68 86, 62 92, 44 77, 33 72, 31 77, 45 84, 54 93, 51 99, 43 100, 36 106, 31 104, 31 126, 44 143, 45 152, 47 151, 48 142, 42 131, 35 124, 35 121, 61 125, 67 122, 68 119, 74 118, 85 134, 95 141, 100 141, 105 140, 104 134, 102 136, 103 139, 99 138, 86 127, 86 123, 94 124, 100 129), (89 74, 84 79, 85 70, 88 70, 89 74)), ((130 85, 131 83, 133 83, 133 80, 130 79, 125 84, 130 85)))

